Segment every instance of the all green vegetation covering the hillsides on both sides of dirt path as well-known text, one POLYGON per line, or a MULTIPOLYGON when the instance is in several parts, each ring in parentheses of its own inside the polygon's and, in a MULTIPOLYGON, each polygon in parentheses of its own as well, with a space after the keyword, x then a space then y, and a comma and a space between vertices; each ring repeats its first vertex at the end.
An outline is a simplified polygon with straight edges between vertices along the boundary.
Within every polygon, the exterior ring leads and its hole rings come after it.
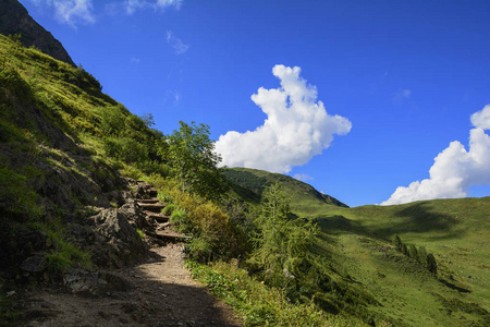
MULTIPOLYGON (((247 326, 488 326, 489 197, 348 208, 290 177, 217 169, 209 126, 163 135, 101 89, 0 35, 1 322, 22 314, 4 292, 15 284, 140 259, 87 241, 133 178, 159 189, 193 237, 194 276, 247 326)), ((138 228, 137 249, 150 233, 138 228)))

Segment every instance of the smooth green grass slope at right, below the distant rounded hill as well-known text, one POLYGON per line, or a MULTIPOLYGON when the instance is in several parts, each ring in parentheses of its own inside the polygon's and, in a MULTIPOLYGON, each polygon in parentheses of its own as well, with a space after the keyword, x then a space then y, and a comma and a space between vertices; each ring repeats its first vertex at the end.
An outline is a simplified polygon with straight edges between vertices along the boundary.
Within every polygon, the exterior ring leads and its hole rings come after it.
POLYGON ((318 251, 373 295, 396 325, 489 326, 490 197, 399 206, 330 208, 319 215, 318 251), (438 275, 391 244, 433 253, 438 275))

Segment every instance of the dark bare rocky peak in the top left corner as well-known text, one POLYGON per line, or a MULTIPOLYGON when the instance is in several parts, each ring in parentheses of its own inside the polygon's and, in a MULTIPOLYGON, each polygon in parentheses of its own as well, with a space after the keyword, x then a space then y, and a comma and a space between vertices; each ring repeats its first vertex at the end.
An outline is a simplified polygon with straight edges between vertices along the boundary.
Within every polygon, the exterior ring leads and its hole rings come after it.
POLYGON ((21 34, 24 46, 35 46, 46 55, 75 66, 61 43, 40 26, 17 0, 0 0, 0 34, 21 34))

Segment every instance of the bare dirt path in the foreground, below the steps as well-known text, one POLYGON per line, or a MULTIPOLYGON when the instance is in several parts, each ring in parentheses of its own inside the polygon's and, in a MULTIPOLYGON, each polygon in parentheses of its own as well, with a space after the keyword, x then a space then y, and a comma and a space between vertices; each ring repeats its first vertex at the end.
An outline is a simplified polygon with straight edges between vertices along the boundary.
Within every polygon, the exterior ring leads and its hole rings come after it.
POLYGON ((37 291, 26 302, 35 326, 242 326, 184 268, 184 245, 152 249, 147 263, 107 271, 103 294, 37 291), (107 280, 107 277, 106 277, 107 280))

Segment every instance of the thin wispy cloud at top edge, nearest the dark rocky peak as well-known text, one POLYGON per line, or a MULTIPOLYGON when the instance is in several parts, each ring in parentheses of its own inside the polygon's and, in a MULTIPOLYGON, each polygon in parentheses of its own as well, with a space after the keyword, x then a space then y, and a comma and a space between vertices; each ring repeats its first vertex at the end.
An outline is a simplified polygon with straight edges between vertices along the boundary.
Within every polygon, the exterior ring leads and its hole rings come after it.
POLYGON ((78 24, 94 24, 91 0, 30 0, 38 5, 46 5, 54 10, 56 19, 63 24, 76 27, 78 24))

